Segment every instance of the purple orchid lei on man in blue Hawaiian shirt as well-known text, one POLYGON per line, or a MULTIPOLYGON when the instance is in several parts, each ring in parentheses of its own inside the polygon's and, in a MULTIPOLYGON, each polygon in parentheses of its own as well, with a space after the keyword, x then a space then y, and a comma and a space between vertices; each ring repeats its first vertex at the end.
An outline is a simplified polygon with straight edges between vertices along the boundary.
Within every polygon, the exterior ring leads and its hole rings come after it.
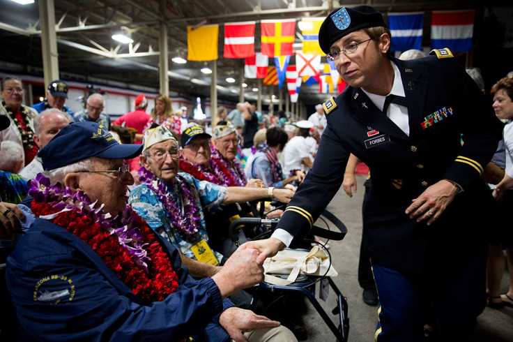
POLYGON ((187 182, 183 177, 176 175, 176 188, 178 194, 182 195, 183 209, 185 215, 182 216, 178 202, 173 195, 167 191, 166 184, 155 177, 155 175, 144 167, 137 172, 141 183, 146 184, 158 196, 158 199, 164 205, 167 211, 167 217, 172 225, 178 231, 178 234, 187 242, 197 241, 197 232, 199 231, 199 208, 196 200, 192 195, 187 182))

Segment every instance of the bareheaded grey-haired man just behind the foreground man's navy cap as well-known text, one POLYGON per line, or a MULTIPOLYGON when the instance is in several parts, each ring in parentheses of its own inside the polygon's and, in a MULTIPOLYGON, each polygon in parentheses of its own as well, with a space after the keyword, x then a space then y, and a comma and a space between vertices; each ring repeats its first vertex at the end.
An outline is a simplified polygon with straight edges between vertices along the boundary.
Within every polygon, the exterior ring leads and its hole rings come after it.
MULTIPOLYGON (((36 142, 40 149, 43 149, 52 137, 59 133, 64 126, 68 126, 72 120, 69 114, 64 114, 56 108, 43 110, 43 112, 36 115, 33 121, 34 142, 36 142)), ((43 164, 41 164, 41 158, 36 156, 20 172, 20 176, 24 179, 34 179, 40 172, 43 172, 43 164)))

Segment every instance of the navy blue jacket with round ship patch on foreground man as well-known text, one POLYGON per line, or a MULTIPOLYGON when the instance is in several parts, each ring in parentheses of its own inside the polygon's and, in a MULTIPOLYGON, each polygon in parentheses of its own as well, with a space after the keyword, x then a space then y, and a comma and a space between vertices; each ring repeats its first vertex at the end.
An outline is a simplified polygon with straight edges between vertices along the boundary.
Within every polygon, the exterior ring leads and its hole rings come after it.
POLYGON ((176 248, 158 239, 180 285, 162 302, 144 306, 84 241, 36 218, 7 260, 20 340, 226 341, 218 318, 233 304, 221 298, 212 278, 190 277, 176 248))

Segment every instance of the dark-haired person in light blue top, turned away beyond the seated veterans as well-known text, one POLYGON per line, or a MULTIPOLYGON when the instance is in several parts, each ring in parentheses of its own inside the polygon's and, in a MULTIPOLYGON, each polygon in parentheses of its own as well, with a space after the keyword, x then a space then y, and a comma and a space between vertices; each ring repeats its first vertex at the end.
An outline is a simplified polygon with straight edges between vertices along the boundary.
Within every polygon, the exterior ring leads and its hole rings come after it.
POLYGON ((293 170, 289 177, 284 177, 282 164, 278 160, 278 153, 283 151, 289 136, 282 128, 273 127, 266 131, 266 142, 258 145, 258 151, 247 158, 246 176, 259 178, 265 186, 283 188, 292 181, 301 183, 305 179, 305 173, 301 170, 293 170))

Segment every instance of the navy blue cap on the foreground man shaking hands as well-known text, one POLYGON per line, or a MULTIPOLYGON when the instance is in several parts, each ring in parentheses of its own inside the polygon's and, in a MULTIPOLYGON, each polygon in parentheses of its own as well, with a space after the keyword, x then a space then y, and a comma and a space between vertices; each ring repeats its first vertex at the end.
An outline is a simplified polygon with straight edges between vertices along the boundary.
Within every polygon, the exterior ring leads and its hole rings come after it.
POLYGON ((54 170, 89 157, 135 158, 141 150, 141 144, 119 144, 105 126, 84 121, 62 128, 38 156, 43 169, 54 170))

